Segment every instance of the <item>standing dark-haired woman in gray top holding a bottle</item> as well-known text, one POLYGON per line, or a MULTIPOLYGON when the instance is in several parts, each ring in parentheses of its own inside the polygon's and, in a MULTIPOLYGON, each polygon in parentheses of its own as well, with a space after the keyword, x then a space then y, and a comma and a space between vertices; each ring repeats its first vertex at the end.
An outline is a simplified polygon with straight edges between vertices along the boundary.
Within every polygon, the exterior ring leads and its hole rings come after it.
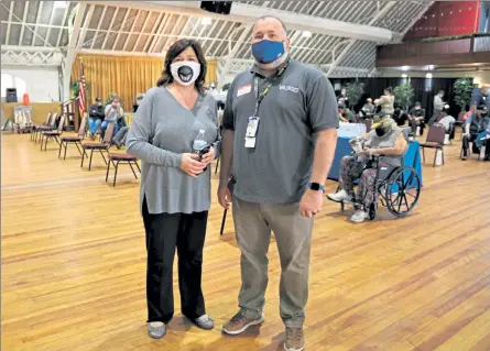
POLYGON ((204 89, 200 44, 182 39, 166 52, 164 70, 138 108, 127 152, 142 161, 140 206, 146 232, 148 333, 163 338, 174 315, 173 264, 178 254, 181 308, 197 327, 215 323, 202 289, 203 248, 211 199, 208 165, 220 152, 216 101, 204 89), (203 136, 209 151, 197 154, 203 136))

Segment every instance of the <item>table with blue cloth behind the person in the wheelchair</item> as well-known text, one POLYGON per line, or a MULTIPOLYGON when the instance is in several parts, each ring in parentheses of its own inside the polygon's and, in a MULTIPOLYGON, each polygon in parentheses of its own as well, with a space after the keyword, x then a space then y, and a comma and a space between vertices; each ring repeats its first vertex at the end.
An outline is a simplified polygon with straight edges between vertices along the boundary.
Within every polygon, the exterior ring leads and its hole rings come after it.
MULTIPOLYGON (((350 147, 349 140, 356 135, 341 135, 337 139, 337 147, 335 150, 334 162, 331 163, 330 173, 328 173, 328 179, 338 180, 340 173, 340 163, 344 156, 350 155, 352 147, 350 147)), ((422 162, 421 162, 421 147, 417 141, 411 141, 409 144, 409 150, 403 157, 403 163, 405 166, 413 167, 421 178, 421 186, 423 186, 422 177, 422 162)))

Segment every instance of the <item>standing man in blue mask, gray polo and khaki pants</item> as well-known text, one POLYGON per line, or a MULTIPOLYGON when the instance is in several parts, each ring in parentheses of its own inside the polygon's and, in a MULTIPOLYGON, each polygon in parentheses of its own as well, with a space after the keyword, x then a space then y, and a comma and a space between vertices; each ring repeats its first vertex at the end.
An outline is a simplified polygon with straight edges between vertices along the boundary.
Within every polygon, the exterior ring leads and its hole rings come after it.
POLYGON ((339 118, 334 88, 316 68, 290 57, 284 23, 252 28, 255 64, 239 74, 224 114, 219 204, 232 210, 241 251, 239 311, 224 332, 262 323, 271 230, 281 257, 284 349, 303 350, 314 216, 334 160, 339 118), (232 168, 233 194, 228 187, 232 168))

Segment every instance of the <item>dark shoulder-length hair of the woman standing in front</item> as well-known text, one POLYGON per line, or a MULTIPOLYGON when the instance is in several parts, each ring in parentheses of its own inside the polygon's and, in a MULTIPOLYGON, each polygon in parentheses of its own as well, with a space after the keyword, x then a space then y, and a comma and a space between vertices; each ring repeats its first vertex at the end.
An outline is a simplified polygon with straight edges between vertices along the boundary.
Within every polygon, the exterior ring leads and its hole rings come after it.
POLYGON ((162 70, 162 76, 156 81, 157 87, 166 86, 167 84, 171 84, 174 81, 174 77, 172 77, 171 73, 171 65, 172 62, 181 55, 181 53, 186 50, 187 47, 192 47, 194 52, 196 53, 197 61, 200 64, 200 72, 199 76, 197 77, 194 85, 196 86, 196 89, 199 92, 204 91, 204 80, 206 78, 206 67, 207 62, 206 57, 204 56, 203 47, 200 47, 200 44, 192 39, 181 39, 173 43, 165 55, 165 63, 162 70))

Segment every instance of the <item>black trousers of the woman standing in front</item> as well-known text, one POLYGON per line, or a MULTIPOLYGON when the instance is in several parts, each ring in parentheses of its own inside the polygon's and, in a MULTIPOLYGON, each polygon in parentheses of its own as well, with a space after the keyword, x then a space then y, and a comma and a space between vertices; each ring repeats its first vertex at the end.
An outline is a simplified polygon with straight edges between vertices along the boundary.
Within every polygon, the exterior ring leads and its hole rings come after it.
POLYGON ((167 323, 174 316, 173 264, 178 254, 182 312, 189 319, 206 314, 203 289, 203 246, 208 211, 150 215, 143 199, 146 232, 148 321, 167 323))

